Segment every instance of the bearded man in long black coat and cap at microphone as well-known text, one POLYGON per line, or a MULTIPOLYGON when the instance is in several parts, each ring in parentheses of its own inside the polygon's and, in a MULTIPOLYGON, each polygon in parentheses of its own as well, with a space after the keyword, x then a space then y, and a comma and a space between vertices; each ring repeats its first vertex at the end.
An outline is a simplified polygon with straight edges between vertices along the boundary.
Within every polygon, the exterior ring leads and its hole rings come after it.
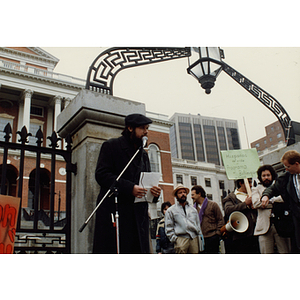
MULTIPOLYGON (((101 201, 108 189, 116 182, 124 167, 139 152, 117 182, 119 213, 119 253, 149 253, 148 203, 134 203, 135 197, 142 198, 147 190, 140 187, 141 172, 150 172, 147 152, 143 149, 142 138, 147 136, 152 121, 141 114, 131 114, 125 118, 122 136, 103 143, 95 177, 100 185, 97 202, 101 201)), ((151 188, 157 199, 161 189, 151 188)), ((155 201, 155 200, 154 200, 155 201)), ((107 197, 96 213, 93 253, 117 253, 116 228, 112 222, 115 216, 115 196, 107 197)))

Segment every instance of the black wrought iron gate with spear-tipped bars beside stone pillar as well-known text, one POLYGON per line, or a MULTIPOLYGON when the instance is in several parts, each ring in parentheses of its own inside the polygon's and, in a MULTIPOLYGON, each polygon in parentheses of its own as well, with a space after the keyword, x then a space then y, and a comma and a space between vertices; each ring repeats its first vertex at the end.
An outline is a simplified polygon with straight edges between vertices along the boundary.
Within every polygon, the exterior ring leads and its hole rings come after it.
MULTIPOLYGON (((21 199, 18 223, 15 236, 15 253, 71 253, 71 174, 76 174, 76 164, 72 164, 72 139, 68 135, 65 139, 65 149, 59 149, 62 139, 58 138, 55 132, 47 137, 50 140, 49 147, 42 147, 43 133, 39 129, 35 135, 36 146, 29 144, 28 137, 32 136, 24 126, 17 132, 19 143, 10 142, 12 130, 8 123, 4 129, 4 141, 0 141, 0 155, 3 156, 1 172, 1 194, 7 194, 7 171, 9 167, 8 156, 14 155, 19 160, 17 197, 21 199), (26 207, 22 198, 24 197, 24 170, 26 158, 30 156, 36 161, 34 185, 32 185, 32 205, 26 207), (50 182, 49 182, 49 209, 42 209, 40 203, 40 178, 41 163, 45 160, 51 161, 50 182), (58 203, 55 210, 55 174, 57 173, 56 163, 60 160, 65 164, 65 199, 64 208, 61 209, 61 196, 58 195, 58 203)), ((27 178, 28 179, 28 178, 27 178)), ((56 196, 57 198, 57 196, 56 196)), ((24 200, 24 199, 23 199, 24 200)), ((28 203, 28 201, 27 201, 28 203)))

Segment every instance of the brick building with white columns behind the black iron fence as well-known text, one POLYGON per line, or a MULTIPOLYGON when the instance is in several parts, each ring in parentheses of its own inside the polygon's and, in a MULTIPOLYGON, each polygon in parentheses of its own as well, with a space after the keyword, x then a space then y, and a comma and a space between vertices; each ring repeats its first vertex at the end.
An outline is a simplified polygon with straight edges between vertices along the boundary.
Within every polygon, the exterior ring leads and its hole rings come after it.
MULTIPOLYGON (((48 147, 48 136, 57 129, 57 116, 78 94, 84 80, 54 73, 59 60, 38 47, 0 47, 0 139, 7 123, 12 128, 10 142, 19 142, 17 132, 23 126, 30 145, 37 145, 35 134, 43 134, 42 146, 48 147)), ((61 145, 60 143, 60 146, 61 145)), ((1 149, 0 149, 1 151, 1 149)), ((1 155, 1 152, 0 152, 1 155)), ((17 195, 19 178, 19 151, 11 150, 8 156, 6 194, 17 195)), ((29 216, 32 213, 35 186, 36 160, 26 152, 26 167, 23 175, 22 207, 29 216)), ((55 211, 63 217, 65 207, 66 165, 62 159, 56 161, 55 211)), ((0 165, 2 169, 2 165, 0 165)), ((39 209, 49 210, 51 157, 44 155, 41 161, 39 209)), ((0 175, 1 176, 1 175, 0 175)))

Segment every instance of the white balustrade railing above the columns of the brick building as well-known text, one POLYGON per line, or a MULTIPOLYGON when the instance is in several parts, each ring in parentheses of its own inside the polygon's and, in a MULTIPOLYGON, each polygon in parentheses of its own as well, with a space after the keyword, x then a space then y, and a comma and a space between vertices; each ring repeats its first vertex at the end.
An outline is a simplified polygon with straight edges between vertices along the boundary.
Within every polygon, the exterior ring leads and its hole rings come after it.
POLYGON ((77 84, 82 87, 84 87, 84 85, 85 85, 84 79, 80 79, 80 78, 76 78, 76 77, 72 77, 72 76, 68 76, 68 75, 64 75, 64 74, 54 73, 54 72, 51 72, 48 70, 35 68, 32 66, 28 66, 28 65, 21 65, 18 63, 7 61, 7 60, 0 60, 0 68, 15 70, 15 71, 19 71, 19 72, 26 72, 26 73, 29 73, 32 75, 37 75, 37 76, 42 76, 42 77, 48 77, 48 78, 52 78, 54 80, 65 81, 68 83, 77 84))

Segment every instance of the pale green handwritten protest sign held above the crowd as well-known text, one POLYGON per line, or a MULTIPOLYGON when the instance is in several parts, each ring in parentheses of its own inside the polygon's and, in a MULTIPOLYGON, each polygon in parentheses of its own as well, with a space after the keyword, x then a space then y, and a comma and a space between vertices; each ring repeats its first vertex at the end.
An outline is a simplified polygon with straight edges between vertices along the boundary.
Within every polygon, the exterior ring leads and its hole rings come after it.
POLYGON ((256 177, 260 161, 256 149, 221 151, 229 180, 256 177))

